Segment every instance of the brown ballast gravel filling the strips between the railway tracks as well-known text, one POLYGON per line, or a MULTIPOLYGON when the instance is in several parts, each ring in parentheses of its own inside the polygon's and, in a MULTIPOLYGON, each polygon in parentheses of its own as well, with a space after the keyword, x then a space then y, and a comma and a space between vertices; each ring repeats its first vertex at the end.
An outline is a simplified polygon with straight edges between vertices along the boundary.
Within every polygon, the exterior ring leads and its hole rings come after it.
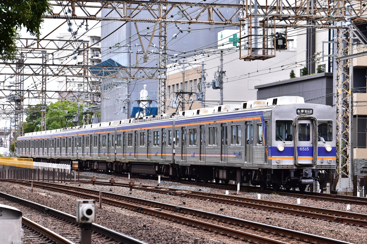
MULTIPOLYGON (((84 173, 89 176, 98 177, 99 181, 108 181, 110 177, 114 177, 115 182, 128 183, 127 177, 109 176, 105 174, 84 173)), ((80 179, 83 175, 80 175, 80 179)), ((90 180, 86 179, 86 180, 90 180)), ((157 180, 132 179, 135 185, 152 185, 158 184, 157 180)), ((62 183, 78 186, 70 182, 62 183)), ((161 181, 160 187, 176 188, 187 191, 206 191, 213 193, 225 194, 224 189, 211 187, 197 187, 193 185, 181 184, 170 181, 161 181)), ((153 200, 156 202, 170 203, 177 206, 185 206, 192 209, 209 211, 228 215, 236 218, 247 219, 250 221, 261 222, 269 225, 280 226, 287 229, 293 229, 301 232, 307 232, 315 235, 325 236, 345 242, 364 244, 367 243, 367 228, 351 226, 335 222, 327 222, 317 219, 309 219, 288 214, 273 213, 263 210, 251 209, 247 207, 232 206, 228 204, 203 201, 198 199, 184 198, 167 194, 159 194, 155 192, 147 192, 133 189, 130 191, 127 187, 118 187, 110 185, 92 185, 80 184, 80 187, 96 189, 99 191, 113 192, 115 194, 129 195, 137 198, 153 200), (183 203, 185 202, 185 203, 183 203)), ((60 211, 76 215, 76 198, 66 194, 48 191, 46 189, 34 188, 30 191, 30 187, 24 186, 23 189, 19 185, 0 182, 0 191, 23 199, 37 202, 60 211)), ((235 192, 231 192, 233 194, 235 192)), ((254 192, 240 192, 240 196, 247 198, 258 198, 258 194, 254 192)), ((297 204, 297 199, 280 196, 276 194, 261 194, 262 199, 297 204)), ((1 203, 1 200, 0 200, 1 203)), ((98 205, 98 203, 96 204, 98 205)), ((301 205, 319 207, 323 209, 334 209, 346 211, 347 204, 330 203, 312 199, 301 199, 301 205)), ((96 206, 96 224, 124 233, 138 240, 145 241, 149 244, 174 243, 188 244, 194 243, 194 239, 199 239, 199 243, 215 243, 215 244, 237 244, 242 241, 229 239, 227 237, 216 235, 203 230, 197 230, 190 226, 183 226, 174 222, 155 218, 152 216, 132 212, 115 206, 103 205, 102 209, 96 206)), ((350 204, 351 212, 367 213, 367 206, 350 204)))

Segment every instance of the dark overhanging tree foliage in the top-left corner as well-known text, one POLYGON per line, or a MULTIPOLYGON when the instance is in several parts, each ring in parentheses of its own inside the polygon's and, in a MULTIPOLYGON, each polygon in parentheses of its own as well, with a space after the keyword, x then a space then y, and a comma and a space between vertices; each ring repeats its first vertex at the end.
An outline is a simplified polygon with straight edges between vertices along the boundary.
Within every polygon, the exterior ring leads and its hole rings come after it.
POLYGON ((47 0, 3 0, 0 1, 0 59, 15 60, 16 38, 21 27, 39 38, 43 15, 50 12, 47 0))

